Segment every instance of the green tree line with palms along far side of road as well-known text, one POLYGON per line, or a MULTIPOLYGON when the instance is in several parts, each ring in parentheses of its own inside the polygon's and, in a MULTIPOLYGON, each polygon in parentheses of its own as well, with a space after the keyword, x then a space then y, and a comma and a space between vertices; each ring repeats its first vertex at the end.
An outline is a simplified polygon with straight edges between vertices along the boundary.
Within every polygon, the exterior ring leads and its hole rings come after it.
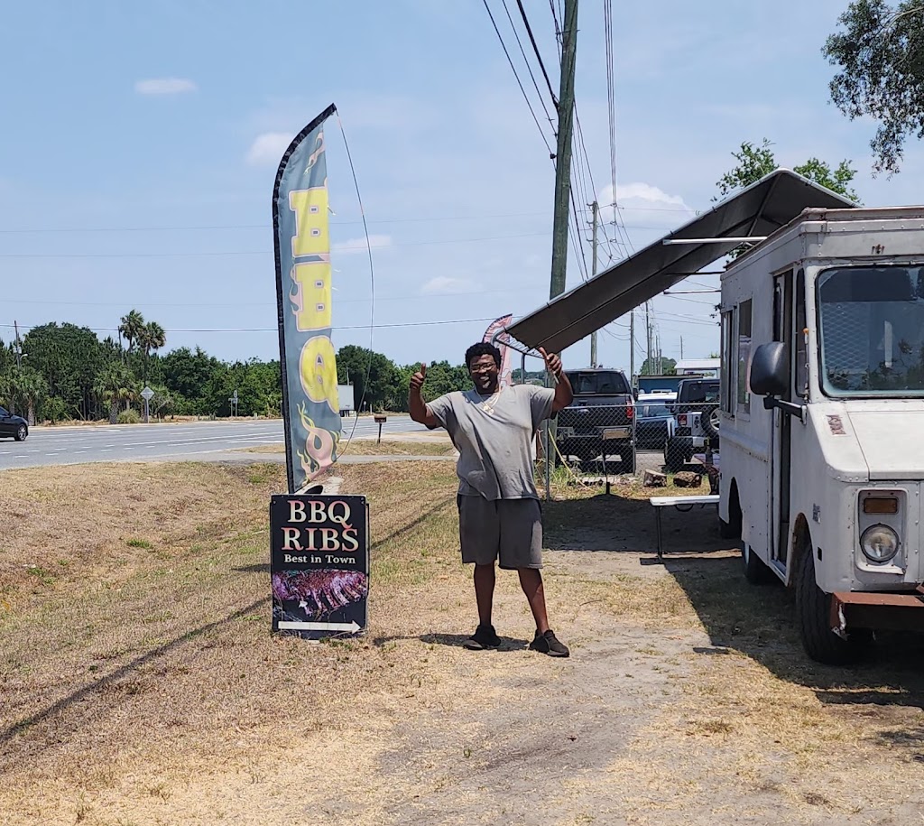
MULTIPOLYGON (((138 310, 121 319, 116 338, 102 340, 88 327, 49 322, 21 339, 0 340, 0 406, 30 424, 67 420, 136 422, 145 385, 153 391, 152 418, 226 417, 237 391, 238 416, 280 415, 278 360, 222 361, 201 347, 161 355, 164 328, 138 310)), ((382 353, 347 345, 337 353, 340 383, 354 387, 355 407, 407 411, 407 384, 417 364, 399 365, 382 353)), ((448 361, 428 365, 425 395, 434 398, 471 387, 468 370, 448 361)))

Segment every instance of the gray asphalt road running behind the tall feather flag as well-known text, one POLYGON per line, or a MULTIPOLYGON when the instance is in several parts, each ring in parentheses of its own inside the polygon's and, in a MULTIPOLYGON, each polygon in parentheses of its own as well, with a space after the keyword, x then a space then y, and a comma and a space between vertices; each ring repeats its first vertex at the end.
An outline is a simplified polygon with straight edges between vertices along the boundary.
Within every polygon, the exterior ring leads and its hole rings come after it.
MULTIPOLYGON (((344 419, 344 436, 356 422, 356 436, 373 436, 378 425, 371 417, 344 419)), ((382 429, 390 433, 424 431, 407 416, 390 416, 382 429)), ((182 424, 36 427, 25 442, 0 440, 0 470, 85 462, 140 462, 160 459, 208 459, 239 448, 282 442, 280 419, 202 421, 182 424)), ((269 455, 272 456, 272 455, 269 455)), ((252 457, 251 457, 252 460, 252 457)))

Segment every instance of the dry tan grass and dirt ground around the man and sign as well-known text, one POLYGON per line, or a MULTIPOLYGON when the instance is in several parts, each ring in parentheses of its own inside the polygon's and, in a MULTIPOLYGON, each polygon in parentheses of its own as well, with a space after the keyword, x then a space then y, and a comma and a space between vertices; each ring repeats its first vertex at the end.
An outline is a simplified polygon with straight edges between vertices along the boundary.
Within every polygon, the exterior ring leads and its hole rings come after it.
MULTIPOLYGON (((649 506, 601 495, 545 507, 551 547, 611 552, 550 556, 575 657, 471 655, 452 465, 338 473, 371 504, 371 626, 322 645, 268 633, 283 468, 3 474, 0 820, 908 821, 897 807, 924 788, 919 657, 812 665, 782 589, 750 589, 722 553, 643 575, 649 506), (547 820, 514 818, 534 798, 511 778, 559 765, 547 820), (876 783, 854 783, 859 765, 876 783)), ((516 577, 496 604, 529 633, 516 577)))

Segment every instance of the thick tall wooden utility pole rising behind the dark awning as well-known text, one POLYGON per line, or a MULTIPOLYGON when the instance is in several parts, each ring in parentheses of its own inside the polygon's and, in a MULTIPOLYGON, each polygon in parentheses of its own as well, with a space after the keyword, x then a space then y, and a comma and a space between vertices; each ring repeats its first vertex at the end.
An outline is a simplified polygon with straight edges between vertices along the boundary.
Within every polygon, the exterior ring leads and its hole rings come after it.
POLYGON ((555 150, 555 209, 552 226, 552 283, 549 298, 565 292, 568 259, 568 207, 571 202, 571 133, 575 107, 577 0, 565 0, 562 72, 558 89, 558 144, 555 150))

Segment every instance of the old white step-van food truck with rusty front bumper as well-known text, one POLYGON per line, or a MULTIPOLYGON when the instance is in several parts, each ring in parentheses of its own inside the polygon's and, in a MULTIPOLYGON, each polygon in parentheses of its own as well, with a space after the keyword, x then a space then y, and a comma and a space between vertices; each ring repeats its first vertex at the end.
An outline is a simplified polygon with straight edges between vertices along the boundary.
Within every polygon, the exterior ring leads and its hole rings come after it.
POLYGON ((722 278, 719 515, 808 655, 924 627, 924 207, 806 210, 722 278))

